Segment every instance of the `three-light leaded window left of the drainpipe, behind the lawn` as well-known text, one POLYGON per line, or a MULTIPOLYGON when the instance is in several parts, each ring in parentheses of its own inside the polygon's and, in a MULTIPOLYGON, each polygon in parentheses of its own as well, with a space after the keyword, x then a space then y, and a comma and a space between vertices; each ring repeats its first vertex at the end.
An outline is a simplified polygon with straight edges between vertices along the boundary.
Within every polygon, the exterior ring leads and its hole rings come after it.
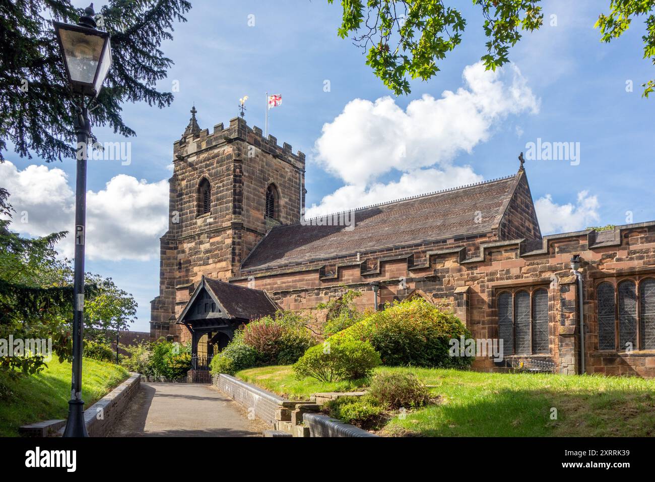
POLYGON ((503 291, 498 294, 498 336, 503 356, 550 352, 548 336, 548 291, 503 291))

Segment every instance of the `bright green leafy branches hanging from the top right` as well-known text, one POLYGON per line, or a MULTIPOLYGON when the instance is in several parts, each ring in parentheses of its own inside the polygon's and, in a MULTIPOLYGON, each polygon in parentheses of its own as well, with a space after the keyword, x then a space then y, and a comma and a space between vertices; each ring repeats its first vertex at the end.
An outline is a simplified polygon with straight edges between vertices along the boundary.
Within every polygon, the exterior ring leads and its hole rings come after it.
MULTIPOLYGON (((333 3, 334 0, 327 0, 333 3)), ((544 14, 540 0, 472 0, 481 9, 487 70, 509 62, 509 50, 525 31, 538 30, 544 14)), ((443 0, 342 0, 343 17, 337 35, 352 35, 354 45, 367 50, 366 64, 394 94, 409 94, 409 78, 428 80, 440 70, 437 62, 462 41, 466 19, 443 0)), ((453 2, 455 3, 455 2, 453 2)), ((610 13, 595 24, 601 41, 622 35, 633 18, 646 16, 644 58, 655 65, 655 0, 610 0, 610 13)), ((644 96, 655 81, 642 85, 644 96)))

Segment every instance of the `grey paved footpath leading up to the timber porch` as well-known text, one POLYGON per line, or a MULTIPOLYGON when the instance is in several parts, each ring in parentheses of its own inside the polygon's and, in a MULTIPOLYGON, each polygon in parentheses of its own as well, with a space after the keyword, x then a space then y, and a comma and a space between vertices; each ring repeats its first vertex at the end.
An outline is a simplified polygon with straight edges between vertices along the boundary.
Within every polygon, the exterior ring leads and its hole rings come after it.
POLYGON ((144 383, 109 437, 261 437, 240 405, 208 384, 144 383))

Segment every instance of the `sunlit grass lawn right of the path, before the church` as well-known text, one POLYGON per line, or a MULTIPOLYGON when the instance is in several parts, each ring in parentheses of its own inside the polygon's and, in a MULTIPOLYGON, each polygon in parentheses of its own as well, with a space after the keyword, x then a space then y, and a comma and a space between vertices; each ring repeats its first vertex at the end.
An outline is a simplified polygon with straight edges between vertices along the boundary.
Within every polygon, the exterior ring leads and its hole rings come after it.
MULTIPOLYGON (((381 367, 413 372, 440 403, 389 420, 381 435, 469 437, 655 436, 655 380, 636 377, 502 374, 444 369, 381 367), (552 420, 553 409, 557 419, 552 420)), ((293 399, 365 384, 295 380, 290 366, 248 369, 236 374, 293 399)))

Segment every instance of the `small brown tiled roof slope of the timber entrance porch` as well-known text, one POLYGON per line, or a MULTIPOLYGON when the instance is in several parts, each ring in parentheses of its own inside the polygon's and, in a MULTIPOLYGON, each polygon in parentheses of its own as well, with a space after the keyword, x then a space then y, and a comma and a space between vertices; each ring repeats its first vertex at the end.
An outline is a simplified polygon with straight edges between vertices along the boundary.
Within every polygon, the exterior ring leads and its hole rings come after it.
POLYGON ((271 299, 261 290, 231 285, 207 277, 204 281, 231 318, 257 319, 272 315, 277 310, 271 299))

